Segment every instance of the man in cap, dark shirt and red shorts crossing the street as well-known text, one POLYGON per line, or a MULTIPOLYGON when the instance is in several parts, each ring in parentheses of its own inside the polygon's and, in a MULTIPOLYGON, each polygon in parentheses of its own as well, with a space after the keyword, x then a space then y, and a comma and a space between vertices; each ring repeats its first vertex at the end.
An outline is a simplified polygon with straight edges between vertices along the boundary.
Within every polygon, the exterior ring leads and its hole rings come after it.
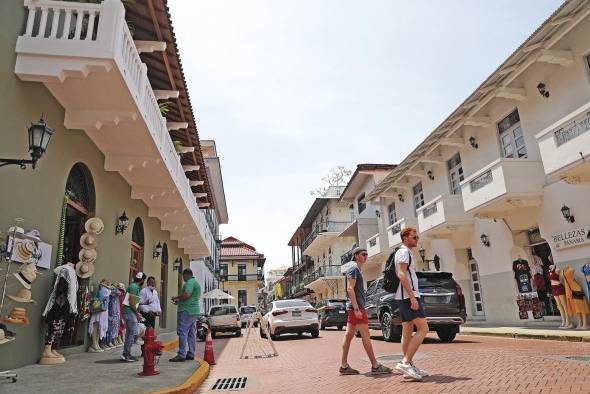
POLYGON ((371 345, 371 334, 369 332, 369 321, 367 311, 365 310, 365 283, 361 268, 367 261, 367 250, 365 248, 357 247, 352 250, 353 265, 346 271, 346 278, 348 285, 346 292, 348 294, 348 302, 346 305, 348 317, 346 324, 346 333, 344 335, 344 342, 342 343, 342 362, 340 364, 340 374, 342 375, 358 375, 359 371, 353 369, 348 365, 348 351, 350 350, 350 343, 354 338, 354 333, 358 330, 361 333, 363 346, 369 360, 371 361, 371 374, 381 375, 391 373, 391 368, 381 365, 375 358, 375 352, 371 345))

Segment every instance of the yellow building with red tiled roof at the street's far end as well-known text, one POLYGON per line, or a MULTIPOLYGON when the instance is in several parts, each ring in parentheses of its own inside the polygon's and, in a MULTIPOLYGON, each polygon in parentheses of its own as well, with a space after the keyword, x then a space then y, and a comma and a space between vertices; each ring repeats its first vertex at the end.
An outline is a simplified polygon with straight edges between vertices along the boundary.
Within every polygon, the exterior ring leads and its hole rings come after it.
POLYGON ((256 248, 234 237, 221 242, 220 288, 233 296, 230 304, 238 307, 258 304, 259 289, 264 287, 266 258, 256 248))

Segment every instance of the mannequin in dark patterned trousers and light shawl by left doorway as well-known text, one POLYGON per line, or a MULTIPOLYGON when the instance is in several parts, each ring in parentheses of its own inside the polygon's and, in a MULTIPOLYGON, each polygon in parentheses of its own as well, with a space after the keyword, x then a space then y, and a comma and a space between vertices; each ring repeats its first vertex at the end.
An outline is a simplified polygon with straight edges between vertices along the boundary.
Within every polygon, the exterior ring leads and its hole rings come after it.
POLYGON ((67 320, 78 312, 76 298, 78 279, 74 265, 68 263, 59 266, 54 272, 57 274, 57 278, 43 312, 47 322, 47 332, 39 364, 45 365, 61 364, 66 361, 65 357, 55 348, 59 346, 67 320))

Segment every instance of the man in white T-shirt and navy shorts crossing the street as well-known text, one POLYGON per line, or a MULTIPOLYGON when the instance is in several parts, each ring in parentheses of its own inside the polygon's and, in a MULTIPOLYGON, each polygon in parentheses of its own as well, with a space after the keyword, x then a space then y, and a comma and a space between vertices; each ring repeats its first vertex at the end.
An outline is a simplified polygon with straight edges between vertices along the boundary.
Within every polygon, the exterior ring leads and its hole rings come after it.
POLYGON ((412 261, 412 251, 418 245, 415 228, 406 227, 400 233, 402 246, 395 253, 395 268, 399 285, 395 293, 402 319, 403 359, 395 366, 404 376, 422 380, 428 373, 414 366, 413 358, 428 334, 428 323, 424 314, 424 303, 420 298, 416 264, 412 261), (414 327, 416 333, 414 334, 414 327), (413 335, 412 335, 413 334, 413 335))

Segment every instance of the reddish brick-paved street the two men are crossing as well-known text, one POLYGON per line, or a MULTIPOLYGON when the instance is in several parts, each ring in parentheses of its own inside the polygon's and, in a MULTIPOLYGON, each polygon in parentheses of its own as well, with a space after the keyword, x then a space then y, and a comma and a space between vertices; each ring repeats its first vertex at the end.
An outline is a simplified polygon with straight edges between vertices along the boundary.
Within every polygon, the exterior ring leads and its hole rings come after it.
MULTIPOLYGON (((398 343, 384 342, 376 331, 373 334, 378 357, 399 354, 398 343)), ((342 336, 343 332, 322 331, 317 339, 281 338, 275 342, 278 357, 247 360, 239 358, 244 337, 217 339, 217 365, 201 392, 217 392, 210 389, 218 378, 246 376, 247 388, 240 392, 590 393, 590 362, 559 360, 560 356, 590 355, 590 343, 460 336, 444 344, 431 335, 416 364, 433 376, 417 383, 397 373, 339 376, 342 336)), ((256 352, 257 345, 249 347, 249 354, 256 352)), ((381 360, 394 365, 394 361, 381 360)), ((349 362, 361 372, 369 370, 360 339, 353 342, 349 362)))

